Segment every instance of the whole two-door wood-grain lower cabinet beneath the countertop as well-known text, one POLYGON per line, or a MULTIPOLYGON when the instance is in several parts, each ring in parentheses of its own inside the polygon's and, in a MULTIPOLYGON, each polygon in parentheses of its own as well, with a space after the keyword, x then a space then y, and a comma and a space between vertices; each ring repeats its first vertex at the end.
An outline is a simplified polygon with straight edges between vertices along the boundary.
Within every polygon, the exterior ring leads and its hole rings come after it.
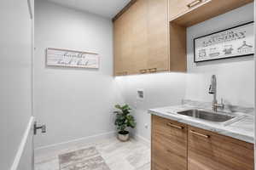
POLYGON ((253 170, 253 144, 152 116, 151 170, 253 170))

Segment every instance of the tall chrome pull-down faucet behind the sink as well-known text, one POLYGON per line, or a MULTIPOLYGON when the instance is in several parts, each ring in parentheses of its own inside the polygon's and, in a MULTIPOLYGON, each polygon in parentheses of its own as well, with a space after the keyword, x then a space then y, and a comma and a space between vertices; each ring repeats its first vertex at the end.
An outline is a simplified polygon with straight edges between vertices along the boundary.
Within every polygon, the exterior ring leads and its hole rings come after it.
POLYGON ((212 100, 212 111, 218 111, 218 108, 221 110, 224 110, 224 102, 223 99, 221 99, 221 104, 218 104, 217 101, 217 80, 216 76, 212 75, 211 79, 211 85, 209 88, 209 94, 213 94, 213 100, 212 100))

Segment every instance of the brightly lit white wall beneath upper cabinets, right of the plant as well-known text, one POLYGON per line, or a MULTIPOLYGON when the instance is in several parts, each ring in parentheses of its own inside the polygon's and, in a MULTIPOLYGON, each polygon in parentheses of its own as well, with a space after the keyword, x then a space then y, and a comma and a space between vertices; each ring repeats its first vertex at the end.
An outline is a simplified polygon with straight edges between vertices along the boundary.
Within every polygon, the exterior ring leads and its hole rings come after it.
POLYGON ((116 77, 125 96, 125 102, 131 105, 137 120, 134 133, 150 139, 150 115, 148 109, 168 105, 179 105, 185 95, 186 74, 156 73, 128 77, 116 77), (137 99, 137 89, 143 89, 145 98, 137 99), (147 127, 148 126, 148 127, 147 127))

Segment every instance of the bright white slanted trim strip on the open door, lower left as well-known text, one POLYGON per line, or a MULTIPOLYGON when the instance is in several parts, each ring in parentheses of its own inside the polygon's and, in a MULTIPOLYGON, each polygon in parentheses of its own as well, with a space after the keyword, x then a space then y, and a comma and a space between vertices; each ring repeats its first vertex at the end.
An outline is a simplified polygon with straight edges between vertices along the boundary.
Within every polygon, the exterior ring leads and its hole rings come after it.
POLYGON ((29 120, 29 122, 27 124, 26 131, 23 134, 23 137, 21 139, 19 149, 18 149, 18 151, 16 153, 15 161, 13 162, 13 165, 10 168, 10 170, 16 170, 18 168, 18 166, 19 166, 21 156, 22 156, 23 151, 24 151, 25 146, 26 146, 26 140, 27 140, 27 138, 29 136, 29 133, 31 133, 31 130, 32 130, 33 122, 34 122, 34 117, 31 116, 31 118, 30 118, 30 120, 29 120))

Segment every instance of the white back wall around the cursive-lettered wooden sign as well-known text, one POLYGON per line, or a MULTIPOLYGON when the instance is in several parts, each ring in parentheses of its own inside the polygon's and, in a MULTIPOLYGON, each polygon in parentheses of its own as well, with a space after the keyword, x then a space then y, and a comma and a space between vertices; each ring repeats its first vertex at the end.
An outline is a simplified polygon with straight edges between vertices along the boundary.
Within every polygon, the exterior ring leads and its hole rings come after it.
POLYGON ((36 148, 113 131, 113 105, 123 100, 113 78, 113 32, 109 19, 35 2, 35 115, 47 133, 36 148), (96 52, 99 70, 45 66, 46 48, 96 52))

